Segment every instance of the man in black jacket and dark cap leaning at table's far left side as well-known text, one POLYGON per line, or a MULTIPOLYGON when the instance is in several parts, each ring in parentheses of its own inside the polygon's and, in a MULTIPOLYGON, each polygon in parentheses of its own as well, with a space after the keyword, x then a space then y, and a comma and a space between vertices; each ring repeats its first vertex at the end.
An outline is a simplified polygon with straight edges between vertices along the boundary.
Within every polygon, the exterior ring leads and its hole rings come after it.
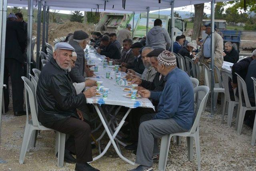
POLYGON ((104 35, 101 39, 102 44, 106 47, 105 50, 98 49, 98 54, 105 55, 107 58, 118 60, 120 59, 120 52, 116 45, 110 42, 108 35, 104 35))

